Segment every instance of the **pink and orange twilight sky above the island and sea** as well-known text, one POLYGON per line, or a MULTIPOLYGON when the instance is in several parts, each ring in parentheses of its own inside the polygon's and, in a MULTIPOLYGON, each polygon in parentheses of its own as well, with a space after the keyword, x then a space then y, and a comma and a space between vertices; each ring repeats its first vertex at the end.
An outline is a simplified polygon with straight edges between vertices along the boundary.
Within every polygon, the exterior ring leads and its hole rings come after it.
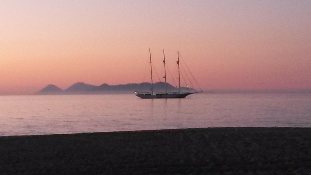
POLYGON ((203 90, 311 89, 311 1, 4 0, 0 95, 150 82, 149 47, 160 78, 179 50, 203 90))

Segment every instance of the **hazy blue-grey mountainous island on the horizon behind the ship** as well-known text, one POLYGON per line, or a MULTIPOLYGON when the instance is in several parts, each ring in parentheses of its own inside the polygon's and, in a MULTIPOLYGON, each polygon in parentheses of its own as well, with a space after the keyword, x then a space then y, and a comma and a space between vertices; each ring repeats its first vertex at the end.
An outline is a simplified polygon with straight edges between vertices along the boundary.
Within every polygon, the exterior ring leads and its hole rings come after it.
MULTIPOLYGON (((178 92, 178 88, 166 83, 167 91, 178 92)), ((153 83, 153 89, 156 92, 165 92, 165 83, 153 83)), ((126 94, 135 91, 151 92, 151 83, 129 83, 120 85, 108 85, 106 83, 96 86, 83 82, 75 83, 67 89, 63 90, 53 84, 41 89, 37 95, 61 95, 61 94, 126 94)), ((181 87, 182 92, 194 92, 193 88, 181 87)))

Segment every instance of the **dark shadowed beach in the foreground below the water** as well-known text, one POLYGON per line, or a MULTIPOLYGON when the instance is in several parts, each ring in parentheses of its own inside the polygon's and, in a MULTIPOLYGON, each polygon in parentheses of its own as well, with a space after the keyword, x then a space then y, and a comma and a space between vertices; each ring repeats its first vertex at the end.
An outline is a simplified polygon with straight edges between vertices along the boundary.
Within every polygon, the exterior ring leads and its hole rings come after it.
POLYGON ((310 174, 311 128, 0 137, 0 174, 310 174))

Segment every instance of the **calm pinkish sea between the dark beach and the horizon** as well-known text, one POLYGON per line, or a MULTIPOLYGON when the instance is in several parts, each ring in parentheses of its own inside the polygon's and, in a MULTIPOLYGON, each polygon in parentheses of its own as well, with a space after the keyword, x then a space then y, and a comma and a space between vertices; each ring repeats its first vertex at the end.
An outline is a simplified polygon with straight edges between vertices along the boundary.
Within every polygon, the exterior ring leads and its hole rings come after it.
POLYGON ((311 94, 0 96, 0 136, 244 126, 311 127, 311 94))

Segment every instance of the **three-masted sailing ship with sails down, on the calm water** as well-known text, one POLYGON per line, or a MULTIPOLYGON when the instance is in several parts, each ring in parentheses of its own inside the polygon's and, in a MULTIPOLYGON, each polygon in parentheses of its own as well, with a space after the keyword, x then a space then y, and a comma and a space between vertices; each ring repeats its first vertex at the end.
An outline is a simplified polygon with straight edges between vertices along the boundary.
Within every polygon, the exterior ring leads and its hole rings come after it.
POLYGON ((137 97, 140 98, 185 98, 188 95, 197 93, 197 92, 186 92, 186 93, 181 93, 180 92, 180 69, 179 69, 179 52, 177 52, 178 54, 178 80, 179 80, 179 92, 167 92, 167 83, 166 83, 166 67, 165 67, 165 54, 164 54, 164 50, 163 50, 163 57, 164 57, 164 78, 165 78, 165 93, 156 93, 154 94, 153 92, 153 79, 152 79, 152 62, 151 62, 151 51, 149 48, 149 56, 150 56, 150 69, 151 69, 151 93, 150 92, 135 92, 135 95, 137 97))

